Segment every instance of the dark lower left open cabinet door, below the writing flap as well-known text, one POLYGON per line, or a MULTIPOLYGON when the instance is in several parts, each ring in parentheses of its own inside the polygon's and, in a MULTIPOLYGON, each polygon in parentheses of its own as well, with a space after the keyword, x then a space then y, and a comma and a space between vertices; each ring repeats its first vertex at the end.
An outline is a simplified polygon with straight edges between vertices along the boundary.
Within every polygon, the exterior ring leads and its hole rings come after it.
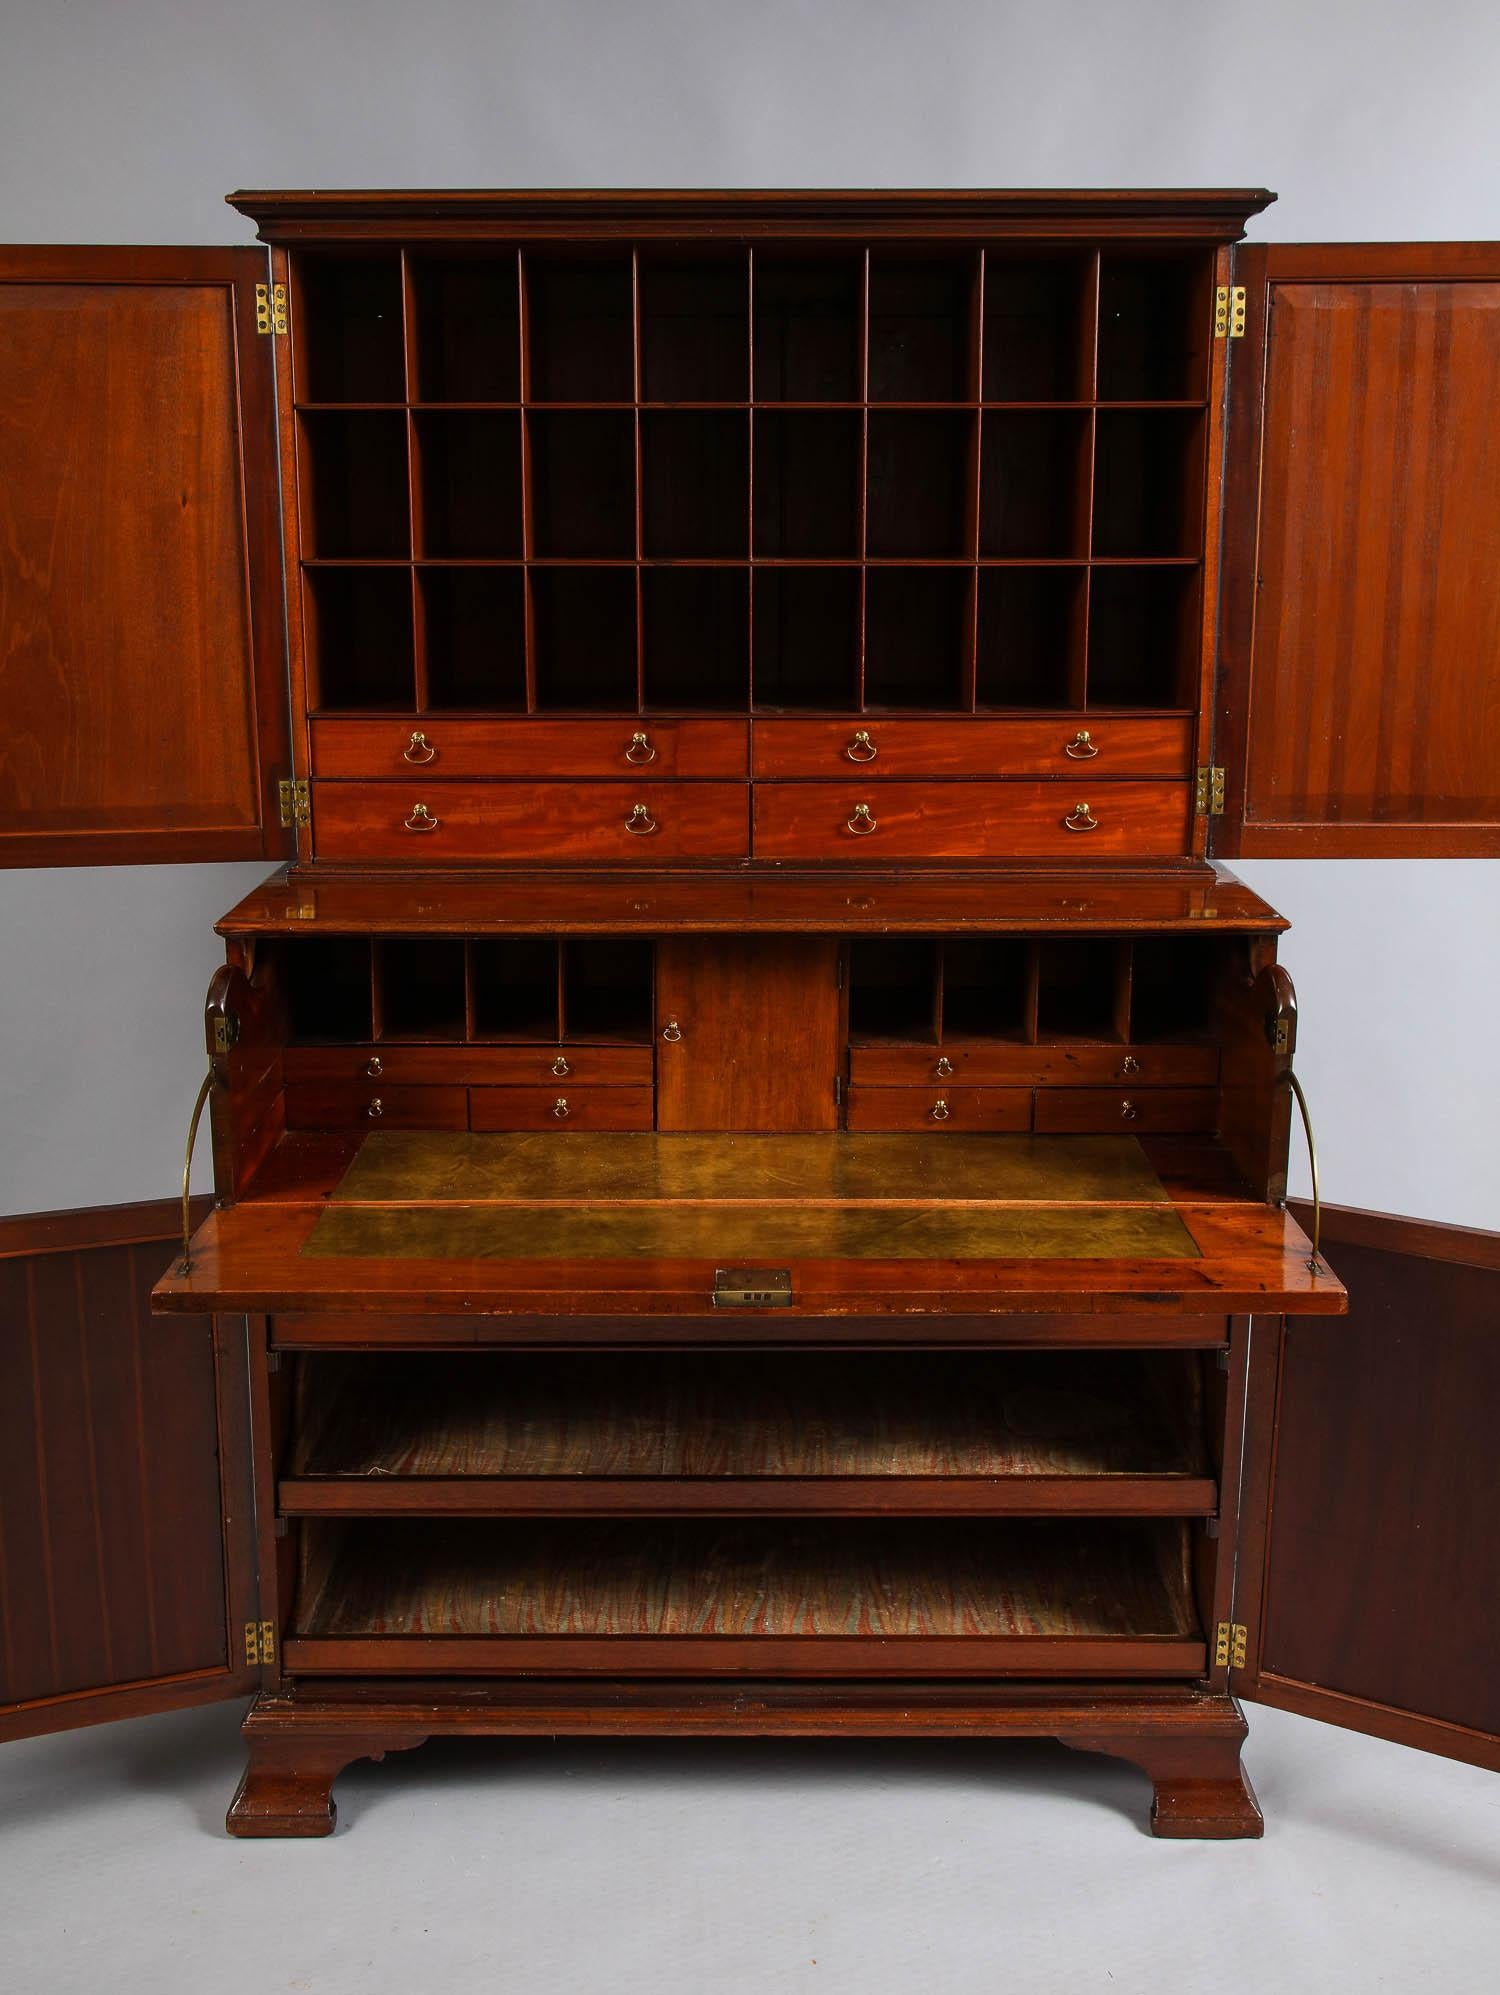
POLYGON ((0 1219, 0 1740, 247 1694, 273 1646, 243 1319, 150 1315, 178 1227, 0 1219))

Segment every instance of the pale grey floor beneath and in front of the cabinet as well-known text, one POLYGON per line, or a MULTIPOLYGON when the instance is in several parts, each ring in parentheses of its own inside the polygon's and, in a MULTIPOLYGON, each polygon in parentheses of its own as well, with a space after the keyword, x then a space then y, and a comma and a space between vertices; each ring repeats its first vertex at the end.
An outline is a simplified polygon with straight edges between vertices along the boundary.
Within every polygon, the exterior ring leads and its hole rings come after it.
POLYGON ((10 1995, 1500 1987, 1500 1778, 1251 1714, 1261 1843, 1049 1742, 443 1742, 221 1833, 227 1708, 0 1750, 10 1995))

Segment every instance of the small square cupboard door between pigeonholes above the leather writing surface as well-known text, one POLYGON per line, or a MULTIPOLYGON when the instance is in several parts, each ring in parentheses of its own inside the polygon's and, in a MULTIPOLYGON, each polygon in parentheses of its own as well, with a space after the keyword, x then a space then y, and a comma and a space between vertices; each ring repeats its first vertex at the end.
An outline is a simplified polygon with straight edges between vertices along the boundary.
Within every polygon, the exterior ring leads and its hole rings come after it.
POLYGON ((656 946, 656 1127, 838 1129, 840 976, 828 936, 656 946))

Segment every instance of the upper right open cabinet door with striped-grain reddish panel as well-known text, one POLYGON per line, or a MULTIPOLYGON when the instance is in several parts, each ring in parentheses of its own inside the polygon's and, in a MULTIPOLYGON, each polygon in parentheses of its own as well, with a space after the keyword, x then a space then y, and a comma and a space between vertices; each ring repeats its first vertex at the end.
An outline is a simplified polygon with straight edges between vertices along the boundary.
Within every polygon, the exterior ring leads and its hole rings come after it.
POLYGON ((1235 253, 1217 858, 1500 852, 1500 243, 1235 253))

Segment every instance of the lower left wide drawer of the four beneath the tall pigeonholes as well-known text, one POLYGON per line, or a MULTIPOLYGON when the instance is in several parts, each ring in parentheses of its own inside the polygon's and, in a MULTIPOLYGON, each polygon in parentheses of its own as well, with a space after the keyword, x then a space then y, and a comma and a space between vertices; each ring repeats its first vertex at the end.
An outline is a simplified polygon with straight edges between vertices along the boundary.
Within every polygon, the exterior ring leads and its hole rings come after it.
POLYGON ((321 860, 744 858, 738 782, 319 782, 313 842, 321 860))

